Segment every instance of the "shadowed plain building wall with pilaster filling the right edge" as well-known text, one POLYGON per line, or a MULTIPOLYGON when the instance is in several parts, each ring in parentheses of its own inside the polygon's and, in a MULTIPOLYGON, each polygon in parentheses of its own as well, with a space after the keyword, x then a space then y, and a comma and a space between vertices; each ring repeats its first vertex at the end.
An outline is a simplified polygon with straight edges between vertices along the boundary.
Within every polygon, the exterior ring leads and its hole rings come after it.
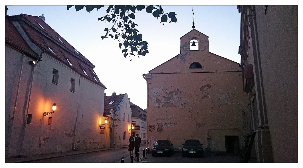
POLYGON ((298 6, 238 9, 253 150, 258 162, 298 162, 298 6))

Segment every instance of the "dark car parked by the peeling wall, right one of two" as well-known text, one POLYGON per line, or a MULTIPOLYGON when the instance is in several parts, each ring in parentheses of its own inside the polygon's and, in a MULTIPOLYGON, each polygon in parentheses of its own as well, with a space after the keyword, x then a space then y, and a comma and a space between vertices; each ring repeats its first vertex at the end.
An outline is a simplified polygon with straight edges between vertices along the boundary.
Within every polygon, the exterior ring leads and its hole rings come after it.
POLYGON ((203 148, 199 140, 188 139, 185 141, 182 148, 182 157, 198 156, 203 157, 203 148))

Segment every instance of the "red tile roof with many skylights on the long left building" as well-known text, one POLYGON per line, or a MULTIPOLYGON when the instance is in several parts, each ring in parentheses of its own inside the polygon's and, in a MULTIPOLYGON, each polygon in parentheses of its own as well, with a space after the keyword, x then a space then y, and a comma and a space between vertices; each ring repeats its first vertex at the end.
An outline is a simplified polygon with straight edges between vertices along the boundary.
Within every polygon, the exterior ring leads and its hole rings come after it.
MULTIPOLYGON (((91 73, 94 72, 93 68, 95 66, 87 59, 85 58, 82 54, 79 54, 75 51, 74 47, 70 45, 66 40, 64 40, 63 37, 61 37, 55 30, 53 30, 48 24, 46 24, 42 19, 40 19, 38 16, 31 16, 31 15, 25 15, 25 14, 20 14, 20 15, 15 15, 15 16, 7 16, 5 15, 5 18, 8 18, 8 20, 14 20, 18 21, 27 34, 27 36, 30 38, 30 40, 36 44, 38 47, 45 49, 45 52, 47 52, 49 55, 55 57, 56 59, 60 60, 61 62, 65 63, 67 66, 70 66, 71 69, 75 70, 79 74, 83 75, 86 79, 91 80, 92 82, 97 83, 98 85, 106 87, 102 84, 102 82, 99 81, 98 76, 94 75, 91 73), (39 26, 39 24, 42 25, 45 30, 39 26), (60 38, 60 40, 63 41, 63 43, 57 38, 60 38), (43 42, 43 40, 52 48, 54 53, 52 53, 49 49, 48 46, 43 42), (62 55, 62 53, 65 54, 65 56, 70 60, 72 63, 72 66, 68 63, 68 61, 65 59, 65 57, 62 55), (84 74, 82 68, 80 67, 79 63, 84 67, 85 71, 87 72, 87 75, 84 74), (98 80, 95 81, 94 76, 98 80)), ((6 21, 6 20, 5 20, 6 21)), ((11 23, 10 23, 11 24, 11 23)), ((9 25, 9 24, 8 24, 9 25)), ((12 25, 13 26, 13 25, 12 25)), ((5 26, 5 41, 12 41, 12 39, 6 38, 7 36, 7 27, 5 26)), ((10 32, 11 29, 14 27, 9 27, 8 32, 10 32)), ((14 28, 15 30, 15 28, 14 28)), ((16 30, 15 33, 16 34, 16 30)), ((18 33, 18 32, 17 32, 18 33)), ((9 33, 8 33, 9 34, 9 33)), ((19 33, 18 33, 19 34, 19 33)), ((8 35, 9 36, 9 35, 8 35)), ((20 35, 19 35, 20 36, 20 35)), ((14 36, 13 36, 14 37, 14 36)), ((21 36, 20 36, 21 37, 21 36)), ((22 38, 22 37, 21 37, 22 38)), ((20 44, 18 44, 18 41, 15 40, 17 44, 14 44, 16 46, 21 45, 25 46, 24 40, 20 40, 20 44), (22 43, 23 42, 23 43, 22 43)), ((26 46, 28 46, 26 44, 26 46)), ((29 48, 29 47, 27 47, 29 48)), ((32 53, 35 53, 31 51, 32 53)), ((37 54, 35 54, 37 55, 37 54)), ((43 57, 42 57, 43 60, 43 57)))

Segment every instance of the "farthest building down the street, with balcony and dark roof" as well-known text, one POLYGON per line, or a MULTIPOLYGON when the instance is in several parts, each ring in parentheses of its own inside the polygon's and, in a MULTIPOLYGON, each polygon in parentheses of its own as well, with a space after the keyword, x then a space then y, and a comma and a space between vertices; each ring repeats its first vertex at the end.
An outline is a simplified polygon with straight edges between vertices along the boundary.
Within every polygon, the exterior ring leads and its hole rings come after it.
POLYGON ((132 108, 132 131, 131 134, 139 134, 141 137, 141 144, 146 144, 146 111, 135 105, 132 102, 129 102, 132 108))

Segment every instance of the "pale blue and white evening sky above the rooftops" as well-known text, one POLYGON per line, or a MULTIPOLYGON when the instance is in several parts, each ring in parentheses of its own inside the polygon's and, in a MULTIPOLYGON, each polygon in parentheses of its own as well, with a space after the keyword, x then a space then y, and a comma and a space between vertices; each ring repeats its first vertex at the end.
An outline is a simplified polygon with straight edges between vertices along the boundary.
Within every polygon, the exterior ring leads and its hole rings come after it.
POLYGON ((209 37, 209 51, 240 63, 240 13, 237 6, 163 5, 165 13, 177 15, 177 23, 160 23, 151 13, 138 11, 133 20, 148 42, 149 54, 124 58, 119 41, 101 39, 105 27, 112 24, 98 21, 106 14, 107 6, 76 12, 66 5, 7 5, 7 15, 21 13, 33 16, 44 15, 45 22, 68 43, 95 65, 95 73, 106 86, 106 95, 128 94, 130 101, 146 108, 146 80, 143 74, 170 60, 180 53, 180 37, 192 30, 192 7, 195 29, 209 37))

